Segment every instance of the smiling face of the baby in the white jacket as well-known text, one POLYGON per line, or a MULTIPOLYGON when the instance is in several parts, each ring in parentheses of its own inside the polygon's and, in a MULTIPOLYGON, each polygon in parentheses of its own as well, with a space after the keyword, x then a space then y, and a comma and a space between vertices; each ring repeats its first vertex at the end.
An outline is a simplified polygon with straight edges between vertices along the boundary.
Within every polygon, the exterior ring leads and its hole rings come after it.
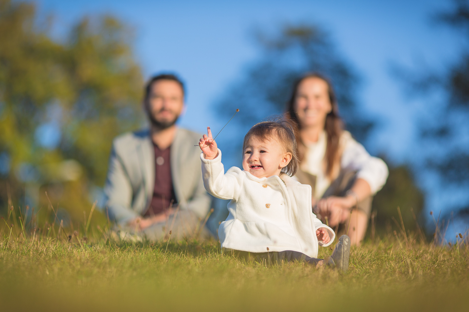
POLYGON ((280 175, 282 168, 291 160, 291 154, 283 152, 274 140, 262 142, 253 137, 243 152, 242 168, 258 178, 280 175))

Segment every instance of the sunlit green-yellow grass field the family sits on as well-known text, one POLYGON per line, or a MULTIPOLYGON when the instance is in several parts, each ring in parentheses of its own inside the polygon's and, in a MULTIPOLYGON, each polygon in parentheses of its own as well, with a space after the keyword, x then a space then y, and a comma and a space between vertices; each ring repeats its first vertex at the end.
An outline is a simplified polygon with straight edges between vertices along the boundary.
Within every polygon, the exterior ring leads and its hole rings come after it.
POLYGON ((1 222, 0 311, 469 311, 463 239, 389 233, 353 247, 340 274, 246 264, 214 240, 132 243, 90 223, 73 234, 58 223, 34 231, 12 213, 1 222))

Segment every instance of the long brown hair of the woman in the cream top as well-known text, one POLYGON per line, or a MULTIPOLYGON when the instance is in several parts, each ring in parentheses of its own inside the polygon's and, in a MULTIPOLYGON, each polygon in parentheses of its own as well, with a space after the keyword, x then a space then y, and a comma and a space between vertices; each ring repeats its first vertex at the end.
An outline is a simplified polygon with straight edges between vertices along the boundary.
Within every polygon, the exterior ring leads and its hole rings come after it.
POLYGON ((332 179, 334 175, 334 167, 335 164, 338 164, 339 161, 339 141, 340 141, 340 134, 343 131, 343 122, 339 116, 339 108, 337 106, 337 99, 335 97, 334 89, 332 87, 331 82, 323 75, 319 73, 308 73, 298 79, 295 84, 293 85, 293 92, 290 97, 290 100, 287 103, 287 117, 293 121, 295 124, 295 137, 296 142, 298 142, 298 152, 299 152, 299 159, 300 163, 304 159, 304 154, 306 151, 306 146, 303 143, 303 140, 300 136, 301 131, 301 124, 298 121, 298 116, 296 115, 295 111, 295 101, 296 95, 298 91, 298 86, 300 83, 308 78, 318 78, 320 80, 325 81, 327 84, 327 89, 329 93, 329 101, 331 102, 332 110, 327 114, 325 117, 325 125, 324 130, 327 134, 327 145, 325 151, 325 165, 326 170, 325 174, 332 179))

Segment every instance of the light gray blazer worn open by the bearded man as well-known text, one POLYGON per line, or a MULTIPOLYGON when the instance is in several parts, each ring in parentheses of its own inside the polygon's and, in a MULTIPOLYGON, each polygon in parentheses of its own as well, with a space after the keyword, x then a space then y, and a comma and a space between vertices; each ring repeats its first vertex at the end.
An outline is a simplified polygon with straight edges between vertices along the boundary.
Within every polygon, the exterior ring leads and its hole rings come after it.
MULTIPOLYGON (((212 197, 202 181, 200 148, 202 136, 178 128, 171 145, 171 176, 174 193, 182 210, 192 210, 204 218, 212 197)), ((142 216, 150 207, 155 185, 155 152, 150 131, 125 133, 113 141, 106 186, 109 217, 125 224, 142 216)), ((106 213, 106 211, 104 211, 106 213)))

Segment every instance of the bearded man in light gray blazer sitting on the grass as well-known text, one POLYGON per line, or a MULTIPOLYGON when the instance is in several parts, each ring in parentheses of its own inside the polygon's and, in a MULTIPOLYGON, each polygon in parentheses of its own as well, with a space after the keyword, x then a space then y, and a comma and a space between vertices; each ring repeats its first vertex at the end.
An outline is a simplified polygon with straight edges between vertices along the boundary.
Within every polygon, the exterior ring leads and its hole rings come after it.
POLYGON ((179 128, 184 84, 175 75, 152 77, 145 86, 144 109, 150 129, 113 141, 106 179, 106 209, 121 228, 160 239, 203 235, 211 196, 200 169, 200 134, 179 128), (202 222, 201 222, 202 221, 202 222), (201 224, 202 223, 202 224, 201 224))

